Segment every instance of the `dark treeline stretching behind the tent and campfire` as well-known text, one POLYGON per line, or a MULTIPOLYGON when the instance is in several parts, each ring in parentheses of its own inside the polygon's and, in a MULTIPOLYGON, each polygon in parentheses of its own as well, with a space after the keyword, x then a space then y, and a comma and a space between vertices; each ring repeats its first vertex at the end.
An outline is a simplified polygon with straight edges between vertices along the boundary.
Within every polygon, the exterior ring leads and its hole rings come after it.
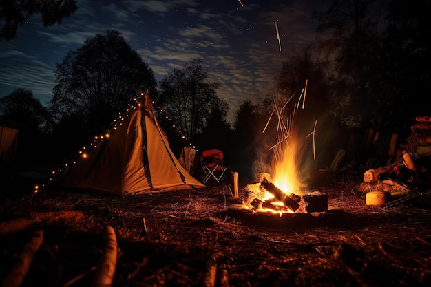
POLYGON ((325 156, 316 165, 324 167, 353 134, 372 128, 403 138, 414 116, 430 114, 430 12, 428 1, 333 1, 313 14, 325 36, 284 59, 269 93, 260 103, 242 103, 234 123, 227 122, 229 107, 218 98, 219 84, 209 81, 202 59, 156 83, 151 68, 116 31, 97 34, 65 55, 48 107, 31 91, 17 89, 0 99, 0 119, 19 125, 19 162, 62 162, 149 89, 156 110, 160 105, 170 111, 171 120, 162 114, 160 123, 176 153, 192 143, 200 151, 221 149, 229 164, 250 167, 274 143, 277 121, 268 121, 273 110, 288 103, 286 111, 293 113, 306 87, 306 112, 295 118, 306 131, 319 123, 318 148, 325 156))

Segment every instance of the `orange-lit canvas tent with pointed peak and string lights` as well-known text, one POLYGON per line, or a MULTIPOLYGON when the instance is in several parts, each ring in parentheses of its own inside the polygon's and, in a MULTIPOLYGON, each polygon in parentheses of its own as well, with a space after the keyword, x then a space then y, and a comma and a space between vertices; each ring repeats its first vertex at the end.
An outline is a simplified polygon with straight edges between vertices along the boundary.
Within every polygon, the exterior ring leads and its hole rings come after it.
POLYGON ((154 193, 204 187, 169 148, 147 93, 92 151, 65 173, 63 187, 112 195, 154 193))

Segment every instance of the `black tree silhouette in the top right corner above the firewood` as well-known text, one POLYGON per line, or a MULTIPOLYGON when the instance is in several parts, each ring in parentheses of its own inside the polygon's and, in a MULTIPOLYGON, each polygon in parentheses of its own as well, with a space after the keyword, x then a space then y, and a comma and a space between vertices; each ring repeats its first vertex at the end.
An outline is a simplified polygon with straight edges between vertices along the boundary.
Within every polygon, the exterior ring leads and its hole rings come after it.
POLYGON ((431 73, 431 3, 392 1, 383 35, 383 57, 372 87, 386 102, 386 123, 410 132, 412 118, 429 114, 431 73), (425 104, 427 103, 427 104, 425 104))

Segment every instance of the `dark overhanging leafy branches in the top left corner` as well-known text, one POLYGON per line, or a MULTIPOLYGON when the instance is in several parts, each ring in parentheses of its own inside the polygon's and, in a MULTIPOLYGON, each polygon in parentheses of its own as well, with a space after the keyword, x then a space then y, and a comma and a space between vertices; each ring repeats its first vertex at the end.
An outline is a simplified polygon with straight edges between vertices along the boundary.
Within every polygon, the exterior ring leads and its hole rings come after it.
POLYGON ((78 9, 75 0, 40 1, 40 0, 2 0, 0 1, 0 19, 4 21, 0 31, 0 40, 12 40, 17 35, 19 25, 36 13, 41 13, 43 26, 61 23, 78 9))

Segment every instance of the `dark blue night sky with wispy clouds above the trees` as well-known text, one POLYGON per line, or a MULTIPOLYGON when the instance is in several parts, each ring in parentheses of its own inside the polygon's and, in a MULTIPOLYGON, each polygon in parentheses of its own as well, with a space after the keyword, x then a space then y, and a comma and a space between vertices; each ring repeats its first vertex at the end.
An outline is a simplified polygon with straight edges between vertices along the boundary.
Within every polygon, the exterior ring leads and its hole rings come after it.
POLYGON ((17 88, 30 89, 47 105, 56 63, 67 51, 78 49, 97 33, 117 30, 157 81, 174 67, 200 57, 211 81, 220 83, 218 96, 227 100, 232 123, 244 100, 255 103, 271 92, 282 61, 315 39, 317 23, 311 14, 322 10, 319 0, 77 3, 78 11, 60 25, 43 28, 38 14, 18 28, 16 39, 0 42, 0 97, 17 88))

